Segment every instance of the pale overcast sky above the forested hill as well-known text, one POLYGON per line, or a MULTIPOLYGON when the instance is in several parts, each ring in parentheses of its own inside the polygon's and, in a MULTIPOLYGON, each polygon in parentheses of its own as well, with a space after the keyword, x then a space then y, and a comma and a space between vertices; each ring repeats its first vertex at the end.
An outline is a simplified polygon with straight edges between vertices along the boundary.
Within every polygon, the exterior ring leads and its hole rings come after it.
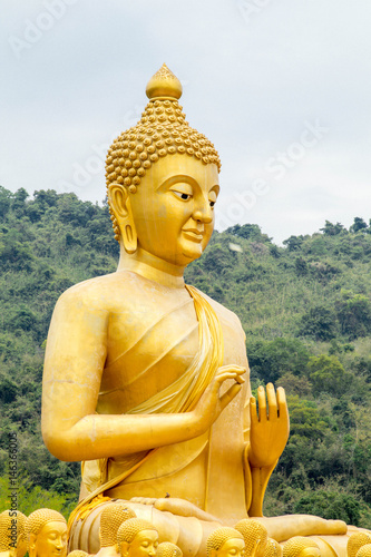
POLYGON ((1 0, 0 184, 105 196, 165 61, 222 158, 217 228, 371 217, 370 0, 1 0))

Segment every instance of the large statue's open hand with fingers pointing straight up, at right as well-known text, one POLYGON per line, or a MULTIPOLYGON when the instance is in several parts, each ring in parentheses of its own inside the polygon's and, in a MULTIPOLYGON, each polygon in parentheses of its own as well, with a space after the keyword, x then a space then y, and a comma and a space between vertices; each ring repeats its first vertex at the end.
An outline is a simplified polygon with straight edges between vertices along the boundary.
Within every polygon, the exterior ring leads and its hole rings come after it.
POLYGON ((279 387, 275 393, 272 383, 257 389, 256 399, 251 398, 251 431, 248 461, 252 468, 275 466, 286 446, 290 431, 285 391, 279 387), (266 403, 267 401, 267 403, 266 403))

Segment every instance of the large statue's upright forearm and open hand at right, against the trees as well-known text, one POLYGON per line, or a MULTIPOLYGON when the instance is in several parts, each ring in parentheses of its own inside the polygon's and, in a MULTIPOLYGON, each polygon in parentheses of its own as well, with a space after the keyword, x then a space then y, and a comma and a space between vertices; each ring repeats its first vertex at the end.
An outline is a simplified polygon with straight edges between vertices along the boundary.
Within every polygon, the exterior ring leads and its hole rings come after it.
POLYGON ((263 516, 263 499, 269 479, 286 446, 290 431, 289 411, 282 388, 272 383, 257 390, 258 411, 254 397, 246 405, 245 481, 250 517, 263 516), (267 399, 267 403, 266 403, 267 399))

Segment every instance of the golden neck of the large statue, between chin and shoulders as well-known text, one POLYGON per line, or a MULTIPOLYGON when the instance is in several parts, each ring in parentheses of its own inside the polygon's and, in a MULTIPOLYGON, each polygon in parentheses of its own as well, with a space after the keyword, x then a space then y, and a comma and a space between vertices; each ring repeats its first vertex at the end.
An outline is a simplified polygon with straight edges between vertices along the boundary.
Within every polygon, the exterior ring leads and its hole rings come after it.
POLYGON ((157 282, 169 289, 184 289, 184 268, 160 260, 140 248, 133 254, 128 254, 125 252, 123 245, 120 246, 118 272, 133 271, 149 281, 157 282))

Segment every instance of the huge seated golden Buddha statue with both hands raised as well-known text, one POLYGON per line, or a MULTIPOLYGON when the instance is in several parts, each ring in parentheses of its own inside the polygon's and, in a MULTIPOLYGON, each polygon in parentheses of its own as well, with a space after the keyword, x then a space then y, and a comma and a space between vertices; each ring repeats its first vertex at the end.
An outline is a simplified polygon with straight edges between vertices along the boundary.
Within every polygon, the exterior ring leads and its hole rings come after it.
POLYGON ((164 65, 141 119, 109 149, 118 268, 65 292, 49 330, 43 439, 61 460, 84 461, 70 548, 99 549, 110 498, 189 557, 248 516, 279 541, 343 534, 339 520, 262 517, 289 436, 285 395, 260 387, 257 413, 240 320, 184 283, 213 233, 221 163, 185 121, 180 95, 164 65))

